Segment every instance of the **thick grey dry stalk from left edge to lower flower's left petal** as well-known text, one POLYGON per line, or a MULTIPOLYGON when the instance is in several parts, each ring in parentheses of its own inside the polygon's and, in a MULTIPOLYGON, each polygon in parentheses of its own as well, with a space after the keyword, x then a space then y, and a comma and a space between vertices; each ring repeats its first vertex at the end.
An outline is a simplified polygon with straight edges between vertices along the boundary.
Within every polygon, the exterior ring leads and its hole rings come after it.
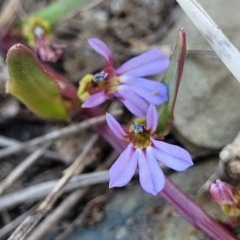
MULTIPOLYGON (((108 180, 108 171, 80 174, 72 178, 70 183, 64 188, 64 192, 73 191, 93 184, 105 183, 108 182, 108 180)), ((12 208, 23 202, 33 202, 46 197, 52 191, 57 182, 59 182, 59 180, 36 184, 0 197, 0 211, 6 208, 12 208)))

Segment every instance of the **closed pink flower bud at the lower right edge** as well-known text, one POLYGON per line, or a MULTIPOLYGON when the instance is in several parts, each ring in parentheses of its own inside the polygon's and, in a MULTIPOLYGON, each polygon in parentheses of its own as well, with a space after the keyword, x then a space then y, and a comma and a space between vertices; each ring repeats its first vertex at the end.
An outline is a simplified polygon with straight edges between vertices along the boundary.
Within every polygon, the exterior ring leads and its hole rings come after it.
POLYGON ((240 216, 240 192, 236 188, 217 179, 216 183, 210 185, 209 192, 225 214, 240 216))

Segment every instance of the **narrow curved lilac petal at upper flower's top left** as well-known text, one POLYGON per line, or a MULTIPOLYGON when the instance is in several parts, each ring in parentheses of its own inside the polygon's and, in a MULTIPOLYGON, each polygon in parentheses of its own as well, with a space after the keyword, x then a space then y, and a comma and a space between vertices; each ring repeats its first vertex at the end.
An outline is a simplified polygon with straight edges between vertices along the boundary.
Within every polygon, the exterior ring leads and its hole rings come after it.
POLYGON ((108 64, 113 65, 113 56, 108 46, 98 38, 89 38, 89 45, 101 56, 103 56, 108 64))

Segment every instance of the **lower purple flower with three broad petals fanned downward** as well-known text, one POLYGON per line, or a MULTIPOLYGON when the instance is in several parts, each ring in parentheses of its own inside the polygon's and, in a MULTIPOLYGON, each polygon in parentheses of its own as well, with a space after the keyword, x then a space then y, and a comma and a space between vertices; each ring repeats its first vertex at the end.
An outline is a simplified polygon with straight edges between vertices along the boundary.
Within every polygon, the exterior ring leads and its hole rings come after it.
POLYGON ((158 114, 154 104, 150 104, 145 118, 137 118, 126 133, 116 119, 107 113, 107 123, 114 134, 129 142, 109 171, 109 187, 122 187, 139 168, 142 188, 157 195, 165 184, 164 174, 159 167, 161 161, 169 168, 184 171, 193 165, 190 154, 181 147, 155 140, 158 114))

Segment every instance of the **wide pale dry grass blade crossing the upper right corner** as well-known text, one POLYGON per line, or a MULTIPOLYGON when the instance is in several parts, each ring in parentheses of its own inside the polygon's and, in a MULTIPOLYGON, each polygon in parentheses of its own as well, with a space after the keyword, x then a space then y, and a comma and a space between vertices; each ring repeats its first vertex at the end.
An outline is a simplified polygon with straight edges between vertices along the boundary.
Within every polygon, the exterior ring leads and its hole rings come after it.
POLYGON ((240 53, 196 0, 177 0, 219 58, 240 82, 240 53))

